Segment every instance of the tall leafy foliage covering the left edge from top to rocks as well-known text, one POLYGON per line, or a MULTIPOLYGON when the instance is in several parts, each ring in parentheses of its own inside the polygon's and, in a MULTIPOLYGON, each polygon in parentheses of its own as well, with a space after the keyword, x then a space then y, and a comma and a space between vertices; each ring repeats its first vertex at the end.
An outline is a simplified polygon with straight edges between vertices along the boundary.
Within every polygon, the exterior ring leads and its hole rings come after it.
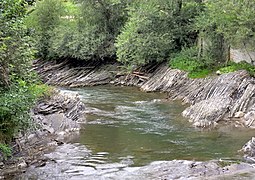
POLYGON ((0 142, 8 142, 30 127, 29 110, 46 89, 35 85, 31 71, 35 51, 23 23, 25 2, 1 1, 0 11, 0 142))

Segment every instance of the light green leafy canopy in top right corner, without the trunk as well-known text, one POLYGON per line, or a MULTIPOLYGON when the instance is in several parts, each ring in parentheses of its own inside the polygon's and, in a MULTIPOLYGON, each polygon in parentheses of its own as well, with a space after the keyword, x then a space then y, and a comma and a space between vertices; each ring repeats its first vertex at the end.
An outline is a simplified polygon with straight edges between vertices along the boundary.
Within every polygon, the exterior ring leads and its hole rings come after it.
POLYGON ((205 7, 197 19, 197 29, 215 27, 231 44, 254 42, 255 1, 208 0, 205 7))

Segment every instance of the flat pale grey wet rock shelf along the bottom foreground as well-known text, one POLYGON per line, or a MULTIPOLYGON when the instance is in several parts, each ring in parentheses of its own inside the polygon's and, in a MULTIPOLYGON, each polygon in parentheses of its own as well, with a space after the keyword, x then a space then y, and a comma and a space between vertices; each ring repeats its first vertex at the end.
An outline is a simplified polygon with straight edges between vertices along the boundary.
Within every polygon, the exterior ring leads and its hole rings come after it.
POLYGON ((255 173, 255 168, 251 164, 221 160, 157 161, 143 167, 129 167, 124 161, 93 164, 88 163, 91 161, 89 151, 79 144, 59 146, 55 152, 46 156, 51 159, 46 166, 29 167, 22 179, 48 179, 48 177, 84 180, 252 179, 255 173), (69 153, 72 153, 71 157, 69 153))

